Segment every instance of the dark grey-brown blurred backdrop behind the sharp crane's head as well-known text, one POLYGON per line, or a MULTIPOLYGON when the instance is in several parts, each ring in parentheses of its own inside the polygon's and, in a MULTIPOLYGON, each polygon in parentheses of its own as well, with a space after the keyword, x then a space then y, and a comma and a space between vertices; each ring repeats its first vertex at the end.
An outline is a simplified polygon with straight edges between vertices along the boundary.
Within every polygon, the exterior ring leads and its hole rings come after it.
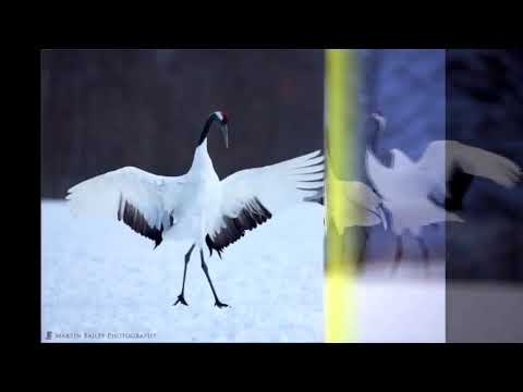
POLYGON ((216 110, 220 177, 320 149, 323 91, 323 50, 45 50, 41 196, 124 166, 183 174, 216 110))

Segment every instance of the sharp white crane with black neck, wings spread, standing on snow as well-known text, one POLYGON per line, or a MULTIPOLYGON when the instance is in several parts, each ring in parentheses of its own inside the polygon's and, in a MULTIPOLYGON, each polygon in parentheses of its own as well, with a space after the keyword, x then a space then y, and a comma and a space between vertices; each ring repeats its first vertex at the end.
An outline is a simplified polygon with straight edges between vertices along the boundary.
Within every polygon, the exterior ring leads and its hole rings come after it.
POLYGON ((126 167, 86 180, 71 189, 66 199, 76 213, 90 213, 123 221, 136 233, 155 242, 188 240, 182 291, 191 253, 199 249, 202 269, 208 280, 215 306, 220 302, 204 258, 222 250, 285 207, 321 196, 324 157, 315 151, 280 163, 242 170, 220 181, 207 151, 207 135, 214 122, 229 145, 228 119, 217 111, 207 119, 188 172, 181 176, 161 176, 126 167))

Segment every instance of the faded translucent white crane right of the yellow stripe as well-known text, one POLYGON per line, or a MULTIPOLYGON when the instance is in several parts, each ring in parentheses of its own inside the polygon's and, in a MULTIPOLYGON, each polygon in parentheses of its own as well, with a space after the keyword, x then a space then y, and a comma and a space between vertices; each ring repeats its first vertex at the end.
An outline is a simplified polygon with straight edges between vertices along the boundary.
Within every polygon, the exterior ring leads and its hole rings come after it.
MULTIPOLYGON (((386 125, 374 113, 378 132, 386 125)), ((366 169, 370 182, 390 212, 390 229, 397 237, 394 265, 403 255, 402 235, 411 232, 418 241, 425 262, 428 247, 421 236, 424 225, 443 221, 463 222, 454 211, 462 209, 463 198, 474 176, 513 187, 523 177, 511 160, 454 140, 431 142, 416 162, 399 149, 392 149, 391 167, 385 167, 367 149, 366 169), (445 203, 437 201, 445 195, 445 203)))

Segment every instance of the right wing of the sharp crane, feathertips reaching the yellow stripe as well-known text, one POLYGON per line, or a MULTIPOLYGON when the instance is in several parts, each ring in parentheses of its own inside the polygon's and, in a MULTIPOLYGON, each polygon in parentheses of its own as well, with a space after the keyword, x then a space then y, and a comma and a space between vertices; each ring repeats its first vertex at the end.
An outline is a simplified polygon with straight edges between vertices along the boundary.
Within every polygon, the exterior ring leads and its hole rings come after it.
MULTIPOLYGON (((208 223, 206 243, 221 252, 272 217, 300 201, 323 196, 324 156, 307 154, 280 163, 239 171, 221 182, 221 203, 208 223)), ((296 222, 299 224, 299 222, 296 222)))

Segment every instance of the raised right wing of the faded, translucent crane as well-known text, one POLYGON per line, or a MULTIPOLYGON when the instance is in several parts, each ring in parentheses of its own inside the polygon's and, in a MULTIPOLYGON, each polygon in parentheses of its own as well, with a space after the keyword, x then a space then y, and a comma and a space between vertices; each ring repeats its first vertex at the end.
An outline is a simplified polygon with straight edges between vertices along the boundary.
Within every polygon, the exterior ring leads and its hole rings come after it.
POLYGON ((447 194, 452 191, 464 194, 472 176, 485 177, 504 187, 522 180, 521 168, 510 159, 454 140, 430 143, 418 168, 435 184, 447 185, 447 194))

